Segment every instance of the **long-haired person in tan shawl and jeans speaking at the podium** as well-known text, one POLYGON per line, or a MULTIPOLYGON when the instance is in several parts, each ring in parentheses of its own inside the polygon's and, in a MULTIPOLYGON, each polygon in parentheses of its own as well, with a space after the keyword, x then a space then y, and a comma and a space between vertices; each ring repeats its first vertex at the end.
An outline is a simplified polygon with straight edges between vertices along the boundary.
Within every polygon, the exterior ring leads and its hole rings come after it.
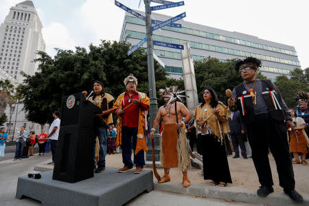
MULTIPOLYGON (((95 139, 98 137, 100 150, 99 161, 97 162, 98 168, 95 173, 102 172, 105 169, 105 156, 107 150, 107 126, 113 123, 113 104, 114 98, 112 95, 104 92, 104 85, 102 82, 96 80, 93 83, 94 95, 88 100, 102 109, 102 114, 95 115, 93 119, 93 135, 94 135, 94 163, 95 163, 95 139)), ((85 95, 87 93, 83 91, 85 95)), ((94 168, 96 165, 94 165, 94 168)))

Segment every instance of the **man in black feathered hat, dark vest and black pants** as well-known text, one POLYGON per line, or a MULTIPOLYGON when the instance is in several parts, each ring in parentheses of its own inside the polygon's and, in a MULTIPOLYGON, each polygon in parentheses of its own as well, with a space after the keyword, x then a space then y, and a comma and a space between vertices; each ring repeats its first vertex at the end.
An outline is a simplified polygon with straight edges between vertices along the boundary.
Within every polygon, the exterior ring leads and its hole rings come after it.
POLYGON ((279 185, 293 201, 302 202, 303 197, 295 190, 286 136, 286 129, 295 131, 295 125, 275 84, 271 80, 255 78, 260 66, 261 61, 253 57, 236 62, 236 70, 244 82, 233 89, 233 98, 228 100, 228 104, 231 111, 240 110, 240 118, 247 130, 253 163, 261 184, 258 196, 266 197, 273 192, 269 147, 277 165, 279 185))

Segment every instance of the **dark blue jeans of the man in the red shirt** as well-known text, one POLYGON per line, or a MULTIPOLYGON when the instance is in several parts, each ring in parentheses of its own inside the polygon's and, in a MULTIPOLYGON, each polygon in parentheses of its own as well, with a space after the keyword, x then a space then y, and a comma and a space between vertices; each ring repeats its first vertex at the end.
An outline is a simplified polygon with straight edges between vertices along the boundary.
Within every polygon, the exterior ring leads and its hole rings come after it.
MULTIPOLYGON (((133 168, 131 160, 132 150, 135 152, 137 143, 137 127, 122 127, 122 162, 127 168, 133 168)), ((144 150, 140 150, 134 155, 134 163, 137 168, 143 168, 145 165, 144 150)))

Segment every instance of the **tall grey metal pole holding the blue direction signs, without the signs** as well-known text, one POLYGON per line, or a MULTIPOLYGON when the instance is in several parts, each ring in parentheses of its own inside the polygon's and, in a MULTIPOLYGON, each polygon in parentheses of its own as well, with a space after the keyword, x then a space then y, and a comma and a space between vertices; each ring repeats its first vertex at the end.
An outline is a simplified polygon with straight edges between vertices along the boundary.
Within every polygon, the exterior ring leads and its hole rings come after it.
MULTIPOLYGON (((152 25, 151 25, 151 9, 150 9, 150 0, 144 0, 145 3, 145 14, 146 14, 146 37, 147 37, 147 65, 148 65, 148 84, 149 84, 149 98, 150 98, 150 128, 155 121, 155 117, 158 112, 158 102, 156 95, 156 82, 155 82, 155 65, 153 60, 153 42, 152 42, 152 25)), ((160 142, 161 137, 159 129, 156 128, 155 132, 155 160, 160 160, 160 142)), ((146 161, 152 161, 152 143, 148 139, 148 152, 146 154, 146 161)))

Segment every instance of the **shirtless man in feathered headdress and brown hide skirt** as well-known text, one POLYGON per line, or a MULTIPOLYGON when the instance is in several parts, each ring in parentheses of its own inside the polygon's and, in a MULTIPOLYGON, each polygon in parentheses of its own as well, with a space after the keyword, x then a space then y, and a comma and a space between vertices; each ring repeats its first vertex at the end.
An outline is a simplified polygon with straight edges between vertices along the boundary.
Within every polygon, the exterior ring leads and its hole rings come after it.
POLYGON ((152 124, 150 138, 153 139, 155 130, 163 119, 163 132, 161 139, 161 162, 163 163, 164 176, 159 183, 170 181, 170 168, 179 168, 183 172, 183 187, 191 185, 187 178, 187 168, 190 167, 190 155, 187 151, 187 137, 183 126, 190 121, 192 115, 190 111, 181 102, 182 100, 178 87, 171 87, 167 89, 160 89, 160 95, 163 95, 164 106, 159 108, 157 117, 152 124), (185 117, 185 119, 183 119, 185 117), (183 119, 183 122, 178 122, 178 119, 183 119))

